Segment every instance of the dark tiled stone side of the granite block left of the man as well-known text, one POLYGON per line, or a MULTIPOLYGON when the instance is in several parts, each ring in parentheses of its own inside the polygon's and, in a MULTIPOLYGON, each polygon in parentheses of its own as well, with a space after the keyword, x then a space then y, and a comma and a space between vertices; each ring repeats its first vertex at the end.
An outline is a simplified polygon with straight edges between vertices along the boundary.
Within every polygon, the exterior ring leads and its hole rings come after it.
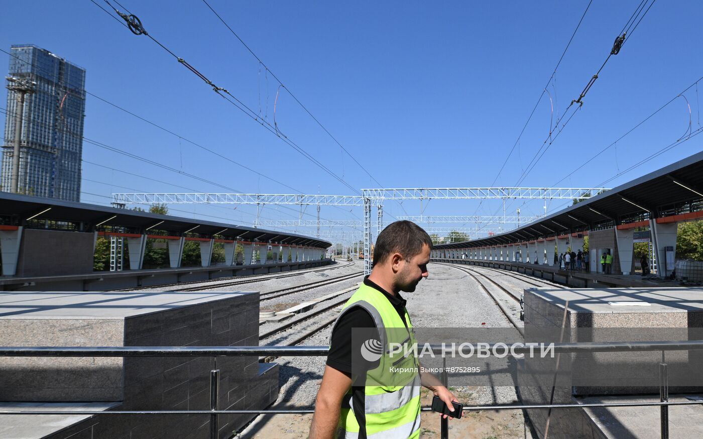
MULTIPOLYGON (((174 301, 187 301, 182 296, 174 301)), ((259 294, 128 317, 124 345, 259 345, 259 294)), ((124 400, 114 409, 209 410, 213 369, 220 371, 219 409, 262 409, 278 397, 278 364, 259 364, 258 357, 127 357, 124 400)), ((253 417, 220 415, 219 438, 231 438, 253 417)), ((209 439, 209 421, 209 414, 102 414, 44 439, 209 439)))

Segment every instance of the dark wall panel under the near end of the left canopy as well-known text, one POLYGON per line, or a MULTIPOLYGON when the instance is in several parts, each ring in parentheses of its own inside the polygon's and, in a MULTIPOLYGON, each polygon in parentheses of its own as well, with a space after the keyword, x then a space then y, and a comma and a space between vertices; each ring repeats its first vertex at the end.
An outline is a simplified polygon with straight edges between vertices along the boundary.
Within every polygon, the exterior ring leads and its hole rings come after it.
POLYGON ((60 276, 93 272, 91 233, 22 230, 16 276, 60 276))

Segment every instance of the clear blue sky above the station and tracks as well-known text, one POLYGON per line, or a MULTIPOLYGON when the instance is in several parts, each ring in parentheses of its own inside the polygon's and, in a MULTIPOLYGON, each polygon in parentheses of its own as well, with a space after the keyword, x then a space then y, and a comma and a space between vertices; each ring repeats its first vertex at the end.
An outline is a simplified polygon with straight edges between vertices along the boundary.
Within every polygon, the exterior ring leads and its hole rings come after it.
MULTIPOLYGON (((686 134, 686 99, 690 129, 701 127, 697 88, 703 93, 703 81, 572 173, 703 76, 701 1, 656 1, 534 167, 529 163, 548 138, 550 123, 579 97, 640 0, 593 0, 549 82, 548 94, 542 94, 545 84, 588 0, 208 2, 386 188, 518 182, 540 187, 607 182, 605 186, 612 187, 702 150, 703 136, 692 137, 617 176, 686 134), (527 129, 498 174, 540 96, 527 129), (525 170, 529 172, 521 178, 525 170)), ((103 0, 98 4, 107 7, 103 0)), ((155 39, 273 124, 278 82, 202 0, 121 4, 155 39)), ((86 138, 236 191, 354 194, 217 96, 148 37, 131 34, 89 0, 5 2, 0 29, 2 49, 9 50, 11 44, 48 49, 86 69, 90 93, 260 174, 93 96, 86 101, 86 138)), ((8 58, 0 53, 0 64, 7 65, 8 58)), ((1 93, 4 107, 6 89, 1 93)), ((276 125, 350 186, 378 187, 283 89, 276 103, 276 125)), ((109 203, 112 192, 228 191, 91 144, 84 144, 83 158, 82 201, 89 203, 109 203)), ((561 205, 553 201, 549 210, 561 205)), ((543 213, 541 201, 512 201, 508 215, 518 207, 522 215, 543 213)), ((171 208, 174 215, 212 215, 211 220, 243 224, 252 222, 255 212, 253 206, 171 208)), ((267 206, 262 217, 294 219, 295 210, 267 206)), ((420 202, 388 203, 385 212, 387 221, 406 212, 419 215, 420 202)), ((425 203, 425 215, 496 212, 503 212, 500 201, 480 206, 475 201, 425 203)), ((315 215, 314 207, 307 213, 315 215)), ((328 206, 321 211, 329 220, 359 219, 361 214, 359 209, 328 206)))

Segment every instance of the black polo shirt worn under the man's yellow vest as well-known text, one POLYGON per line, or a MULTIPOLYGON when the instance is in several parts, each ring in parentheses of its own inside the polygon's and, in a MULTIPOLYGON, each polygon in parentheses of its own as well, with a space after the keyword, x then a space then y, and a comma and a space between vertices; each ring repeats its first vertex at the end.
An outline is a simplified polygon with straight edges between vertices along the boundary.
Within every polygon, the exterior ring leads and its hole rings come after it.
MULTIPOLYGON (((388 301, 393 305, 398 315, 403 320, 403 323, 408 326, 405 321, 405 305, 407 301, 401 297, 399 293, 392 295, 383 288, 368 279, 368 276, 363 278, 363 284, 374 288, 376 291, 385 295, 388 301)), ((332 330, 330 338, 330 353, 327 357, 327 364, 334 367, 338 371, 352 373, 352 328, 375 328, 376 324, 373 317, 368 311, 362 307, 353 307, 342 315, 342 318, 337 322, 332 330)), ((361 345, 356 347, 356 351, 361 349, 361 345)), ((369 364, 368 368, 373 369, 378 364, 369 364)))

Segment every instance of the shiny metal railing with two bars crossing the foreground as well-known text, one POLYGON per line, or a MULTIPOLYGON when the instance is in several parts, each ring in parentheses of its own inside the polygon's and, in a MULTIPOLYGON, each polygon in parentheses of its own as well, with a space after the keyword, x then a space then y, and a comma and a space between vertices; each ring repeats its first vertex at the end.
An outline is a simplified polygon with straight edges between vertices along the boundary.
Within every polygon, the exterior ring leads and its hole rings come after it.
MULTIPOLYGON (((703 405, 703 401, 669 401, 669 378, 664 352, 677 350, 703 350, 703 340, 697 341, 640 341, 640 342, 588 342, 588 343, 553 343, 553 352, 643 352, 661 351, 662 362, 659 363, 659 402, 612 402, 586 404, 521 404, 521 405, 474 405, 465 406, 465 411, 479 410, 524 410, 524 409, 561 409, 585 407, 660 407, 661 437, 669 438, 669 407, 678 405, 703 405)), ((434 354, 445 357, 452 353, 439 345, 432 346, 434 354)), ((473 348, 478 349, 477 345, 473 348)), ((516 354, 529 354, 529 346, 515 347, 516 354)), ((0 357, 323 357, 328 355, 327 346, 189 346, 189 347, 154 347, 154 346, 118 346, 118 347, 0 347, 0 357)), ((494 345, 489 344, 489 352, 494 352, 494 345)), ((441 376, 447 384, 446 369, 441 376)), ((219 414, 309 414, 314 409, 255 409, 255 410, 220 410, 219 369, 210 371, 210 409, 209 410, 82 410, 71 411, 79 415, 108 414, 209 414, 210 438, 217 439, 219 414)), ((430 407, 422 407, 431 411, 430 407)), ((60 411, 0 411, 2 414, 44 415, 67 414, 60 411)), ((446 419, 441 422, 441 438, 449 438, 446 419)))

